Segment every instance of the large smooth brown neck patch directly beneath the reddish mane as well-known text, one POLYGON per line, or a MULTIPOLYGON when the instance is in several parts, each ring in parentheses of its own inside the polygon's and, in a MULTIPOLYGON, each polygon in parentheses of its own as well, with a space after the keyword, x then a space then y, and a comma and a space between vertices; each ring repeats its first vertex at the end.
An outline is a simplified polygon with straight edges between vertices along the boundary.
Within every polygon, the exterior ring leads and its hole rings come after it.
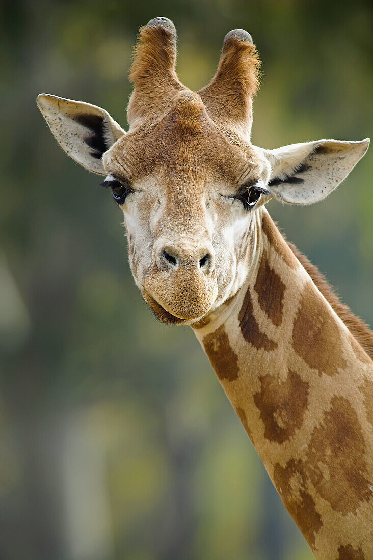
POLYGON ((338 325, 311 281, 303 287, 294 320, 293 348, 319 375, 337 375, 346 367, 338 325))

